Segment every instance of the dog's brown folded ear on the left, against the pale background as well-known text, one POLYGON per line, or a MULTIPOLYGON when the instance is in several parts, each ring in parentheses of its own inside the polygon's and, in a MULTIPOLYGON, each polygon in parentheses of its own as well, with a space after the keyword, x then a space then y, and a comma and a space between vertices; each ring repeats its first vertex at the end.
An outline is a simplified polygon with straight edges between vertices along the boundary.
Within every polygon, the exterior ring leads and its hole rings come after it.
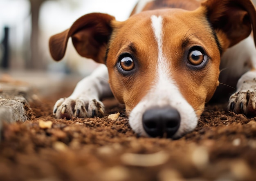
POLYGON ((104 63, 106 46, 112 34, 111 21, 113 16, 103 13, 90 13, 76 20, 70 29, 52 36, 49 49, 52 58, 61 60, 65 55, 67 41, 72 42, 79 55, 92 58, 98 63, 104 63))

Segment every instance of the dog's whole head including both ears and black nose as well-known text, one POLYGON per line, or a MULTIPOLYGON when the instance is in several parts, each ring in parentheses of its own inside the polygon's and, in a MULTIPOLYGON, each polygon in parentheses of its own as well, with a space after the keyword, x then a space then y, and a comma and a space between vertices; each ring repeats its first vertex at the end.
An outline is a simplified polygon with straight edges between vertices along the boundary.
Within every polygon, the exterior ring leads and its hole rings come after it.
POLYGON ((72 37, 81 56, 107 65, 112 92, 135 132, 175 138, 196 127, 219 84, 221 54, 252 28, 250 0, 207 0, 194 11, 142 11, 124 22, 87 14, 52 36, 49 47, 61 60, 72 37))

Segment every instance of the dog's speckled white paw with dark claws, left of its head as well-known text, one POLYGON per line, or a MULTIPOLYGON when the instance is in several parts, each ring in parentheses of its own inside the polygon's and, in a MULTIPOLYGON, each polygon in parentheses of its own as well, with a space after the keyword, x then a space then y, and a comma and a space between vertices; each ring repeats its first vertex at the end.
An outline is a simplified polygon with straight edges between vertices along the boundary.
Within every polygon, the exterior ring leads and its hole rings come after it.
POLYGON ((71 119, 72 116, 78 118, 104 116, 104 105, 97 99, 88 98, 61 98, 53 109, 56 118, 71 119))

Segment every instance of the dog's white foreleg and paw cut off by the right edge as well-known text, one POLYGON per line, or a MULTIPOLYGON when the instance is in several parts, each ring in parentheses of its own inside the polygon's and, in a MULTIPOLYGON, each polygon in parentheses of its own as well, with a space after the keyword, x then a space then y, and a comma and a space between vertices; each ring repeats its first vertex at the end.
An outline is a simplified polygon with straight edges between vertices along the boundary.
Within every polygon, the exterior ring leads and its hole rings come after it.
MULTIPOLYGON (((256 49, 251 36, 228 49, 222 56, 227 75, 240 79, 230 96, 228 109, 236 113, 256 114, 256 49), (234 63, 236 60, 236 63, 234 63), (245 66, 246 65, 246 66, 245 66)), ((227 82, 227 84, 229 84, 227 82)))

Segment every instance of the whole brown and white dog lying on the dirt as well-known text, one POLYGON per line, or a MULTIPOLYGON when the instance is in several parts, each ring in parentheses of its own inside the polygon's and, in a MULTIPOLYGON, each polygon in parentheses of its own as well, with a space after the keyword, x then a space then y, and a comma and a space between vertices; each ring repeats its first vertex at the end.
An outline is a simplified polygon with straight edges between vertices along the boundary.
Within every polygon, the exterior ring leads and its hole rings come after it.
POLYGON ((81 56, 106 66, 56 102, 57 118, 100 116, 100 98, 114 94, 136 133, 178 138, 196 127, 224 68, 221 83, 237 83, 228 109, 256 114, 250 0, 141 0, 124 22, 90 13, 50 38, 54 60, 63 58, 69 37, 81 56))

